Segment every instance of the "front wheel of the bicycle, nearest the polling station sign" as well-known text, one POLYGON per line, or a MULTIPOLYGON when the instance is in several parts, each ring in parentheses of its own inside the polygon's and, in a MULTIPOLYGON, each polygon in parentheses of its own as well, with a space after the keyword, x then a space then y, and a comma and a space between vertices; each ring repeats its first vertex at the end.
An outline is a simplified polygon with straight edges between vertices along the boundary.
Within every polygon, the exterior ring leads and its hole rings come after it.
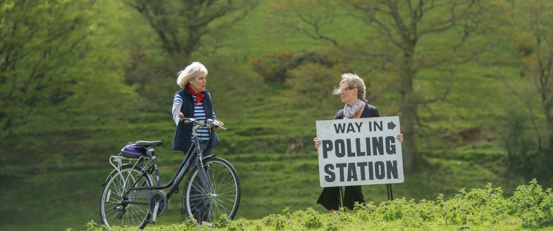
POLYGON ((204 169, 195 166, 185 182, 188 216, 199 223, 216 221, 223 214, 231 220, 240 204, 240 181, 234 167, 221 158, 204 160, 204 169))

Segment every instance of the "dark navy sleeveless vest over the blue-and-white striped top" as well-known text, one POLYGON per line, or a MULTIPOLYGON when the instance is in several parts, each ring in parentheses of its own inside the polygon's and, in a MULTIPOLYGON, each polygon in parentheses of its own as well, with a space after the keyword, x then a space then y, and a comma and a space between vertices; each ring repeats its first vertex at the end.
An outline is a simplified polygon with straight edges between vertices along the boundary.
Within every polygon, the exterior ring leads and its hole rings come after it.
MULTIPOLYGON (((192 97, 192 93, 190 93, 187 88, 184 88, 176 93, 178 93, 182 98, 180 112, 184 114, 184 118, 194 118, 195 102, 192 97)), ((204 108, 206 110, 207 118, 210 119, 213 117, 213 103, 211 102, 211 95, 207 90, 204 91, 204 95, 204 108)), ((173 150, 188 151, 188 149, 190 149, 190 146, 192 145, 192 127, 193 125, 191 123, 184 123, 182 121, 179 122, 176 126, 175 137, 173 139, 173 150)), ((213 134, 211 135, 211 148, 215 148, 215 145, 218 143, 219 138, 217 137, 217 133, 213 131, 213 134)))

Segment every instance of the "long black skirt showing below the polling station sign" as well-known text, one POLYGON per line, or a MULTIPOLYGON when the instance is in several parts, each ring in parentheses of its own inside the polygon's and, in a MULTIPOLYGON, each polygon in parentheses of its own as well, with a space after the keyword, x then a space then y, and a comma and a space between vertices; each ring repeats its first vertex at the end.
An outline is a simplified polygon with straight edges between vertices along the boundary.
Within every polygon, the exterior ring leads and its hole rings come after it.
MULTIPOLYGON (((361 186, 345 186, 345 188, 343 206, 353 209, 355 202, 365 203, 361 186)), ((338 210, 340 208, 340 187, 323 188, 317 204, 321 204, 328 210, 338 210)))

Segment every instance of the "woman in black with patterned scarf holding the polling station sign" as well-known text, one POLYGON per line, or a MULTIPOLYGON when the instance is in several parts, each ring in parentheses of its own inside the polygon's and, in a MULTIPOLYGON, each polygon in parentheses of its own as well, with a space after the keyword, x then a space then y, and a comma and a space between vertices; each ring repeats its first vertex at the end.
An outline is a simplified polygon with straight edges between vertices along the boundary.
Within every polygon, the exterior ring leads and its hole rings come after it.
MULTIPOLYGON (((365 99, 366 87, 363 80, 352 73, 345 73, 340 81, 340 88, 333 93, 340 95, 342 103, 345 103, 343 109, 336 113, 334 119, 357 119, 380 117, 380 112, 377 108, 367 103, 365 99)), ((403 134, 398 134, 398 141, 403 142, 403 134)), ((315 138, 315 148, 319 149, 322 141, 315 138)), ((361 186, 345 186, 343 195, 343 206, 353 209, 355 202, 364 203, 363 191, 361 186)), ((321 204, 331 213, 337 211, 340 207, 340 187, 325 187, 323 188, 317 204, 321 204)))

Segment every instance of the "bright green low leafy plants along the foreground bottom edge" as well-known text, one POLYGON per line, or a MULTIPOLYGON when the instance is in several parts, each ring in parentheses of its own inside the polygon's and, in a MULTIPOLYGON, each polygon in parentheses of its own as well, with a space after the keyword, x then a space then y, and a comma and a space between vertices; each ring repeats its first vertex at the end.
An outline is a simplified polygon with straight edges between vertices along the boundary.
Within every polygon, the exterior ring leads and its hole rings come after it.
MULTIPOLYGON (((504 197, 500 188, 488 184, 485 188, 460 190, 455 197, 436 201, 405 200, 400 198, 382 202, 356 204, 353 212, 340 211, 325 214, 312 208, 290 212, 285 208, 280 214, 269 214, 259 220, 237 219, 228 221, 215 230, 344 230, 344 229, 547 229, 553 228, 553 194, 543 191, 536 181, 521 185, 512 197, 504 197), (514 206, 514 207, 513 207, 514 206)), ((95 229, 91 222, 89 230, 95 229)), ((181 224, 153 227, 145 230, 180 230, 206 227, 183 227, 181 224)), ((126 229, 124 229, 126 230, 126 229)))

